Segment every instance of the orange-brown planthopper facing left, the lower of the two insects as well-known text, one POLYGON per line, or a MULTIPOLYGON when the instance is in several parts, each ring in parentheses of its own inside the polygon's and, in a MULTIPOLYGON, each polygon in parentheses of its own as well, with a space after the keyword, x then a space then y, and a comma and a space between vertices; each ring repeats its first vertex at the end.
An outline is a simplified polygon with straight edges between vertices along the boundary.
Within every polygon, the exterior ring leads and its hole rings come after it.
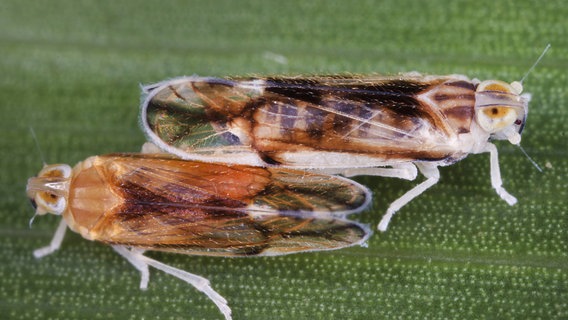
POLYGON ((94 156, 71 168, 45 166, 30 178, 36 214, 63 218, 49 246, 67 228, 111 245, 141 273, 149 267, 205 293, 226 319, 227 301, 201 276, 149 258, 148 250, 222 257, 275 256, 363 244, 368 227, 346 219, 370 202, 346 178, 285 168, 185 161, 169 154, 94 156))

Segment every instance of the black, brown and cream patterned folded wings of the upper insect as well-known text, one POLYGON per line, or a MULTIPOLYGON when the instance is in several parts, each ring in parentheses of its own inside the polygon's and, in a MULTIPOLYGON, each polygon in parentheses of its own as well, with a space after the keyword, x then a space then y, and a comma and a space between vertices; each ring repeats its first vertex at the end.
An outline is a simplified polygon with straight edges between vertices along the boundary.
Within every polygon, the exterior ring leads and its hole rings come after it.
POLYGON ((142 123, 152 142, 183 158, 241 153, 231 162, 298 167, 316 156, 286 155, 440 160, 469 130, 473 103, 473 84, 449 77, 190 77, 149 87, 142 123))

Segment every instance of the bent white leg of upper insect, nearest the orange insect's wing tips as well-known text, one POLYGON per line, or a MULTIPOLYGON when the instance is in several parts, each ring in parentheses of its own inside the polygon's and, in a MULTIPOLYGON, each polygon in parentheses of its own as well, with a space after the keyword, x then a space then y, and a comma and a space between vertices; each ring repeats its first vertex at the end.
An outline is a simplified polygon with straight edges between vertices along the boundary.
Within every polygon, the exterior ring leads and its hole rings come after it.
POLYGON ((417 163, 416 166, 420 169, 420 172, 426 177, 426 180, 421 182, 419 185, 407 191, 402 197, 396 199, 389 208, 387 213, 381 219, 379 223, 379 230, 386 231, 392 216, 400 210, 404 205, 412 201, 424 191, 426 191, 431 186, 435 185, 438 180, 440 180, 440 171, 438 167, 428 163, 417 163))

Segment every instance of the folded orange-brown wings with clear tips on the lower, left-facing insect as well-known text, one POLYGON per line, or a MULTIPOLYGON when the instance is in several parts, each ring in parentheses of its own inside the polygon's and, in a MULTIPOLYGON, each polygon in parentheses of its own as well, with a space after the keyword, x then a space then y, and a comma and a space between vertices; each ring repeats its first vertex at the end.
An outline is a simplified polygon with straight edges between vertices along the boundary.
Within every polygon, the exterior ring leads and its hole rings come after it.
POLYGON ((103 156, 93 166, 122 199, 90 231, 102 242, 247 256, 338 249, 370 234, 343 218, 369 203, 369 191, 343 178, 152 155, 103 156))

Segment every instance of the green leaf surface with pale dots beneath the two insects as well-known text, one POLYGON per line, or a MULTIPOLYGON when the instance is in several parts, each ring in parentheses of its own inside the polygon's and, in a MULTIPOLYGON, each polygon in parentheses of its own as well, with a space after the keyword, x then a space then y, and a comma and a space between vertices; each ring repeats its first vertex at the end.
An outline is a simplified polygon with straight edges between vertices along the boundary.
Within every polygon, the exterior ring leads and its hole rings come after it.
MULTIPOLYGON (((150 253, 202 275, 235 319, 567 318, 568 6, 563 1, 49 1, 0 3, 0 314, 10 319, 221 318, 194 288, 139 273, 68 233, 28 221, 26 179, 48 163, 139 150, 139 84, 181 75, 398 73, 525 80, 522 145, 499 143, 504 203, 487 155, 442 168, 368 247, 274 258, 150 253)), ((362 177, 375 226, 417 181, 362 177)))

